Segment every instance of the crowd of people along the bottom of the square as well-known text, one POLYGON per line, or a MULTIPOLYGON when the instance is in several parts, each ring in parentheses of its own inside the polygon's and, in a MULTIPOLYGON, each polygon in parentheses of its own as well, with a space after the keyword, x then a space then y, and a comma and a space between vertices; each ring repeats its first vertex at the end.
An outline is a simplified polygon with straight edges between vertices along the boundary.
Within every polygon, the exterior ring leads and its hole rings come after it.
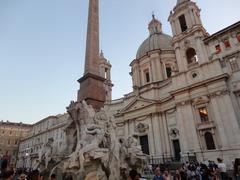
MULTIPOLYGON (((234 162, 234 176, 229 176, 227 167, 223 160, 218 158, 217 163, 186 162, 183 163, 175 172, 169 171, 164 166, 154 168, 153 180, 240 180, 240 158, 234 162)), ((129 172, 127 180, 146 180, 136 170, 129 172)), ((43 174, 38 170, 27 171, 26 169, 14 170, 2 163, 0 169, 0 180, 45 180, 43 174)), ((56 175, 52 174, 50 180, 56 180, 56 175)), ((70 179, 68 179, 70 180, 70 179)))

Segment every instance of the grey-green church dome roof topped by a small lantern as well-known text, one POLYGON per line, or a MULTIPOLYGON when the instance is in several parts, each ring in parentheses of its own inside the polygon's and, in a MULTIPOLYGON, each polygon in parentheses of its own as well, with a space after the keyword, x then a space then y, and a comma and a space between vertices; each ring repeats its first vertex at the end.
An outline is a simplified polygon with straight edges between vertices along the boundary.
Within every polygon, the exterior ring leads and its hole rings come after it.
POLYGON ((150 36, 143 41, 138 48, 136 55, 137 59, 156 49, 173 50, 173 47, 171 46, 172 37, 162 33, 162 24, 155 19, 154 15, 152 21, 148 25, 148 29, 150 36))

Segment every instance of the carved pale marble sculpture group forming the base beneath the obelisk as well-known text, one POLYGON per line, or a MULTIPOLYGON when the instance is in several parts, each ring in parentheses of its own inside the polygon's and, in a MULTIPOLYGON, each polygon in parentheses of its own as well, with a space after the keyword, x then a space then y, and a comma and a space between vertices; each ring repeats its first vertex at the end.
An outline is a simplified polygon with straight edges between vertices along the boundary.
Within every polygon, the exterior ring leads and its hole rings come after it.
MULTIPOLYGON (((95 112, 82 101, 71 102, 67 110, 71 116, 65 128, 67 148, 51 172, 58 170, 76 180, 93 176, 102 180, 119 180, 124 179, 131 168, 143 170, 146 155, 136 137, 118 140, 114 117, 106 109, 95 112)), ((51 160, 51 143, 48 144, 46 166, 51 160)))

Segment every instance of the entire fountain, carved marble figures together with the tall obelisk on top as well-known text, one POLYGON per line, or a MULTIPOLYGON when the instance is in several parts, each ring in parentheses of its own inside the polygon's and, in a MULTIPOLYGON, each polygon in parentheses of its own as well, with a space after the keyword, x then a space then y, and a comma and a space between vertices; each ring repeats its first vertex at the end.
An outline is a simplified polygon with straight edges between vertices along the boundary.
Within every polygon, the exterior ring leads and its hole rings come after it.
POLYGON ((99 75, 99 2, 89 0, 84 75, 78 80, 78 99, 67 107, 70 115, 65 128, 67 148, 52 154, 54 139, 39 156, 39 168, 74 180, 121 180, 130 169, 142 171, 146 156, 134 136, 116 136, 114 116, 104 107, 105 79, 99 75))

